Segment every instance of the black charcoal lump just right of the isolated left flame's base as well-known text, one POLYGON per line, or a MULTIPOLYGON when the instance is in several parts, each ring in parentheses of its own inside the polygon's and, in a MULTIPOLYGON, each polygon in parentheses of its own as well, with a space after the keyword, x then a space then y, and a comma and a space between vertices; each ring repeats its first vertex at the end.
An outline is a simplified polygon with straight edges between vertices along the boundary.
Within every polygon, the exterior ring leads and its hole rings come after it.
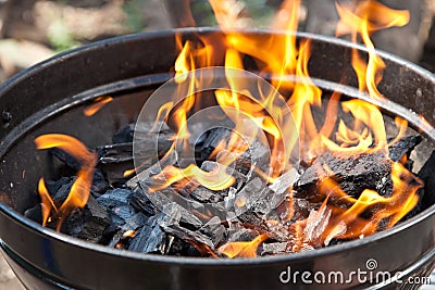
POLYGON ((90 196, 85 207, 75 211, 64 222, 62 229, 66 229, 73 237, 98 242, 109 225, 108 212, 90 196))

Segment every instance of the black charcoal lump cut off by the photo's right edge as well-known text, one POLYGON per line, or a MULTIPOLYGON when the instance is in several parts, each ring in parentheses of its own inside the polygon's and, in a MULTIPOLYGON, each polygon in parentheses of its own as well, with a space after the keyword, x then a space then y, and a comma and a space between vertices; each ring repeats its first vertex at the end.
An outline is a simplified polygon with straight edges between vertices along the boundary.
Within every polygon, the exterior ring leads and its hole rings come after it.
POLYGON ((424 163, 423 167, 418 173, 418 177, 420 177, 424 182, 424 191, 420 190, 421 194, 421 210, 427 209, 428 206, 435 203, 435 151, 432 152, 431 156, 424 163), (423 194, 424 192, 424 194, 423 194))

